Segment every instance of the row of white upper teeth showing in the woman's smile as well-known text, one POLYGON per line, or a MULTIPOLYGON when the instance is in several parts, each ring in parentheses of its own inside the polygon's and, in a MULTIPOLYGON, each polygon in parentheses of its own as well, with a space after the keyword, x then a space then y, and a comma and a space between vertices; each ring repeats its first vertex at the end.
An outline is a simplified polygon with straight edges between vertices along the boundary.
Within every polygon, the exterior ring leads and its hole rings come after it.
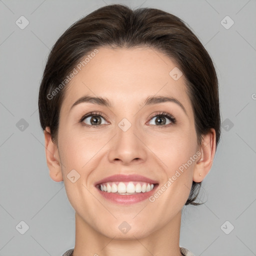
POLYGON ((154 184, 146 182, 106 182, 100 184, 100 190, 108 193, 140 193, 152 190, 154 184))

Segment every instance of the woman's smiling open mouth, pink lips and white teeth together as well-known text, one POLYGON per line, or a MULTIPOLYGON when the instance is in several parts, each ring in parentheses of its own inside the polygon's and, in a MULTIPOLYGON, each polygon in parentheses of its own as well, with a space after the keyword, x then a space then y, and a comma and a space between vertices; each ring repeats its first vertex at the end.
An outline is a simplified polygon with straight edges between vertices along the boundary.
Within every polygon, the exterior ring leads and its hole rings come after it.
POLYGON ((150 197, 158 183, 140 175, 113 175, 95 184, 105 199, 118 204, 131 204, 150 197), (132 179, 133 178, 133 179, 132 179))

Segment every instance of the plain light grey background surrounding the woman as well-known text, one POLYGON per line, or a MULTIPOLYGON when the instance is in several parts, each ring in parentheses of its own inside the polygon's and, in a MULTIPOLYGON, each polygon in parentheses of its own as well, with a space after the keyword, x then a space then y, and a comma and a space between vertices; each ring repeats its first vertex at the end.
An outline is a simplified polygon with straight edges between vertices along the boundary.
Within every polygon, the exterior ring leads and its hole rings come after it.
POLYGON ((177 15, 211 55, 222 135, 200 193, 206 203, 183 209, 180 246, 202 256, 256 255, 255 0, 0 0, 0 256, 61 255, 74 246, 74 210, 63 181, 48 174, 38 88, 56 39, 109 3, 177 15), (21 15, 29 21, 24 29, 15 23, 21 15), (234 21, 229 29, 220 23, 226 15, 234 21), (29 226, 24 234, 16 228, 20 221, 29 226))

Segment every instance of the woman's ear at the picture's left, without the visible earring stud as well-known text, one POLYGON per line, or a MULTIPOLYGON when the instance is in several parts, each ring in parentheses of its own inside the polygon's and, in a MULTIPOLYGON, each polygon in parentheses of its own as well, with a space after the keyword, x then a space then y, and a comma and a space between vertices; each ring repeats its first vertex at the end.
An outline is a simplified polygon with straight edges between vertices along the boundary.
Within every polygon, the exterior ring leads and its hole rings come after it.
POLYGON ((51 139, 49 127, 46 127, 43 133, 45 142, 45 155, 46 162, 49 168, 49 175, 51 179, 56 182, 62 181, 63 178, 60 167, 58 147, 51 139))

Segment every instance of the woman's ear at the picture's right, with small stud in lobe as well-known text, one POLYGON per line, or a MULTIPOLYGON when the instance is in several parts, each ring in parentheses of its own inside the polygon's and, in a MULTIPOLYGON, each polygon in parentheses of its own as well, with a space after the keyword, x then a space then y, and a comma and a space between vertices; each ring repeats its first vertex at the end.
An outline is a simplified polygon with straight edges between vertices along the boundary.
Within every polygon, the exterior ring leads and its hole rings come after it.
POLYGON ((210 171, 212 161, 215 155, 216 133, 213 128, 203 136, 199 148, 200 158, 197 160, 193 170, 193 181, 201 182, 210 171))

